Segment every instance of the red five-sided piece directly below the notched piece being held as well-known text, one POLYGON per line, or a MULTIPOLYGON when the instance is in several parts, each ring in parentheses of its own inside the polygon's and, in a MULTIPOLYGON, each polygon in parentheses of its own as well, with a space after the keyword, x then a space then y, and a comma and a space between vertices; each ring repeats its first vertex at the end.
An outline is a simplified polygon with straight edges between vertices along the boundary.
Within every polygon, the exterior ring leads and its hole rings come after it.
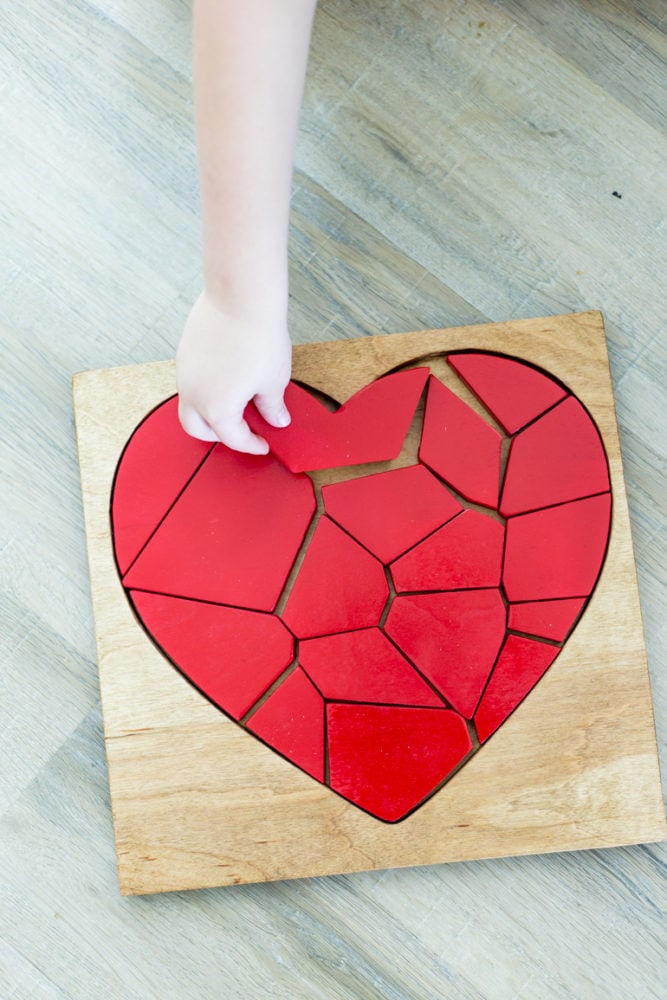
POLYGON ((322 489, 334 521, 383 562, 391 562, 461 510, 423 465, 380 472, 322 489))

